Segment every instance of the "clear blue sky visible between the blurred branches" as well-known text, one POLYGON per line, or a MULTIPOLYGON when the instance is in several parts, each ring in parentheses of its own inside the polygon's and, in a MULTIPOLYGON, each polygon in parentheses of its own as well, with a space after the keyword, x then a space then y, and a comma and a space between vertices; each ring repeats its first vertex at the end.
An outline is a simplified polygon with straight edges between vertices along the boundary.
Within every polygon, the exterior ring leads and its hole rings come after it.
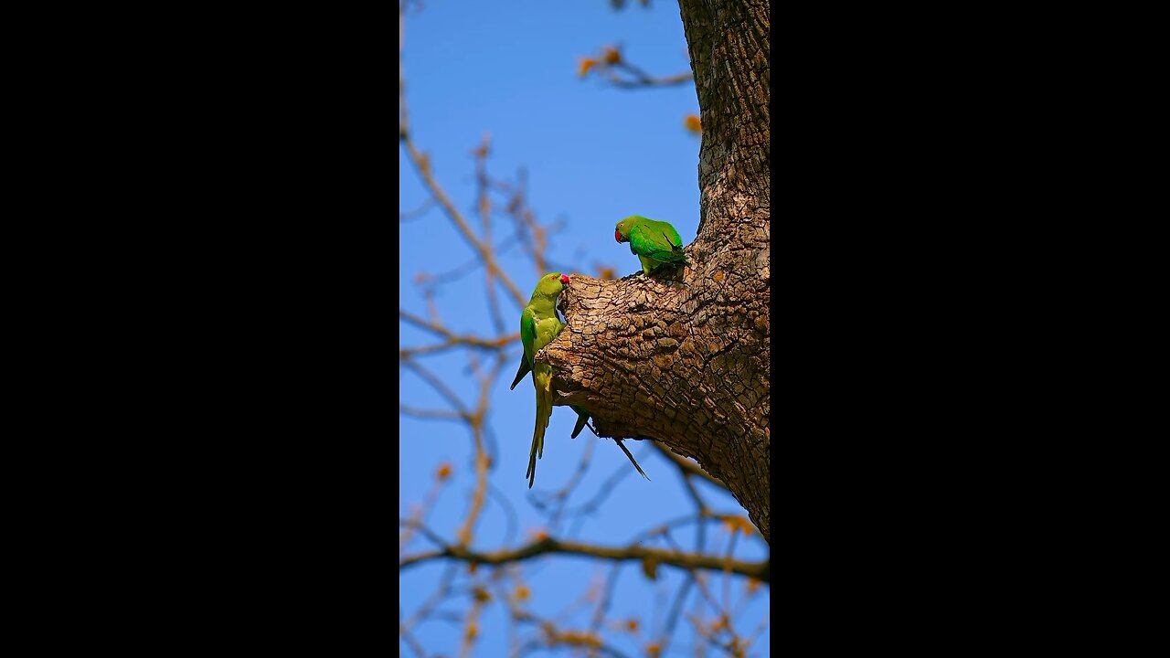
MULTIPOLYGON (((614 224, 628 214, 644 214, 670 221, 684 241, 695 238, 698 225, 697 164, 700 139, 683 129, 683 117, 698 114, 693 85, 624 90, 607 87, 593 77, 577 76, 578 57, 596 54, 605 44, 621 44, 633 63, 654 75, 689 70, 679 7, 658 1, 651 9, 639 6, 622 12, 605 0, 577 2, 425 2, 421 12, 411 12, 405 28, 404 75, 410 103, 411 131, 420 149, 429 155, 433 171, 454 203, 479 226, 474 212, 474 176, 470 156, 481 136, 490 132, 493 155, 489 172, 496 178, 515 179, 518 167, 528 170, 529 203, 538 220, 563 219, 564 228, 551 237, 548 256, 567 265, 569 272, 597 275, 594 263, 617 267, 618 276, 632 274, 640 266, 626 245, 613 240, 614 224)), ((376 83, 376 81, 371 81, 376 83)), ((387 117, 393 121, 393 117, 387 117)), ((399 210, 410 211, 426 200, 426 192, 399 149, 399 210)), ((495 220, 497 239, 505 235, 505 218, 495 220)), ((399 227, 399 306, 425 315, 425 303, 412 282, 417 273, 439 273, 472 260, 467 245, 449 220, 434 210, 422 219, 399 227)), ((526 297, 538 274, 517 254, 503 256, 502 263, 526 297)), ((501 290, 505 331, 516 331, 519 310, 501 290)), ((440 289, 436 299, 440 316, 460 333, 494 336, 484 301, 482 269, 455 285, 440 289)), ((402 345, 432 344, 436 340, 399 323, 402 345)), ((497 466, 491 484, 508 496, 518 516, 519 532, 542 525, 531 508, 524 480, 531 440, 535 399, 531 384, 515 391, 508 385, 519 358, 518 344, 491 392, 489 419, 496 439, 497 466), (514 358, 512 358, 514 357, 514 358)), ((425 363, 443 375, 445 381, 469 404, 474 404, 475 383, 467 375, 467 356, 453 351, 426 357, 425 363)), ((443 407, 426 384, 405 369, 399 371, 404 404, 443 407)), ((546 433, 544 459, 537 467, 532 492, 558 488, 578 465, 586 441, 598 441, 589 431, 570 440, 574 414, 567 407, 553 407, 546 433)), ((473 487, 472 445, 466 429, 453 421, 422 421, 399 417, 399 516, 407 506, 419 502, 431 486, 434 469, 450 461, 455 469, 429 525, 445 537, 453 537, 456 525, 467 514, 473 487)), ((689 498, 670 465, 653 455, 648 447, 628 441, 631 450, 652 478, 633 473, 626 458, 612 441, 594 447, 591 469, 577 499, 583 502, 615 469, 628 468, 634 477, 622 479, 598 515, 580 528, 581 541, 620 546, 654 523, 689 513, 689 498)), ((738 503, 713 487, 703 493, 721 512, 743 513, 738 503)), ((504 537, 505 516, 489 503, 480 522, 474 547, 493 549, 504 537)), ((693 540, 686 534, 688 542, 693 540)), ((727 546, 727 533, 714 532, 713 546, 727 546)), ((523 537, 517 537, 523 540, 523 537)), ((766 555, 758 539, 739 540, 741 558, 766 555)), ((687 544, 684 544, 687 546, 687 544)), ((426 542, 412 543, 414 550, 426 542)), ((534 604, 544 614, 563 609, 589 587, 594 573, 607 574, 608 564, 578 558, 543 558, 525 563, 531 574, 534 604)), ((439 564, 414 568, 401 578, 400 605, 413 611, 434 589, 439 564)), ((679 575, 661 569, 665 580, 649 583, 636 563, 622 571, 614 599, 618 617, 649 615, 661 583, 675 590, 679 575)), ((464 577, 466 580, 466 577, 464 577)), ((714 581, 722 591, 722 580, 714 581)), ((737 583, 742 587, 742 583, 737 583)), ((735 592, 738 594, 738 590, 735 592)), ((768 588, 763 588, 744 614, 750 631, 768 616, 768 588)), ((447 609, 466 610, 466 599, 447 609)), ((687 606, 687 611, 693 605, 687 606)), ((665 612, 663 612, 665 614, 665 612)), ((589 616, 577 625, 587 625, 589 616)), ((489 606, 482 624, 483 636, 474 656, 505 654, 503 609, 489 606)), ((647 619, 648 621, 648 619, 647 619)), ((680 622, 686 629, 688 623, 680 622)), ((460 628, 447 622, 428 622, 417 637, 431 651, 457 653, 452 642, 460 628)), ((531 632, 531 631, 529 631, 531 632)), ((617 644, 631 654, 641 654, 636 644, 619 638, 617 644)), ((770 631, 753 646, 752 653, 766 656, 770 631)), ((628 637, 628 636, 625 636, 628 637)), ((676 635, 680 640, 689 632, 676 635)), ((536 654, 548 654, 545 651, 536 654)))

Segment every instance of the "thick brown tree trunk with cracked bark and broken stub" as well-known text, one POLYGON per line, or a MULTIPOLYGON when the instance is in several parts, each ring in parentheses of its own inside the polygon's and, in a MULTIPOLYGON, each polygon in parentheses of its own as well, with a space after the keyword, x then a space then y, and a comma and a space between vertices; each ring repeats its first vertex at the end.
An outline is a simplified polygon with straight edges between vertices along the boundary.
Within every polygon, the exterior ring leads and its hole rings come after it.
POLYGON ((553 365, 556 404, 589 407, 601 436, 695 458, 771 543, 769 5, 680 0, 703 125, 695 267, 572 274, 567 328, 537 358, 553 365))

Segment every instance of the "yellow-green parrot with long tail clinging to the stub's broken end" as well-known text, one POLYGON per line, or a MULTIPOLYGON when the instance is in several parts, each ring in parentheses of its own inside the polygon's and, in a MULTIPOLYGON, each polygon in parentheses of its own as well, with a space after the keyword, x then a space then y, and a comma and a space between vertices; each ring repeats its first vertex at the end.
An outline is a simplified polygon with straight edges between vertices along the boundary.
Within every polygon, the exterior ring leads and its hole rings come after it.
MULTIPOLYGON (((560 334, 560 330, 565 328, 565 323, 557 316, 556 309, 557 296, 567 285, 569 277, 564 274, 558 272, 545 274, 536 285, 536 289, 532 290, 532 297, 529 300, 528 306, 521 310, 519 316, 519 337, 524 344, 524 354, 519 357, 519 368, 516 370, 516 377, 512 379, 512 385, 509 390, 515 390, 516 384, 519 384, 525 375, 532 372, 532 384, 536 388, 536 427, 532 431, 532 447, 528 458, 528 472, 524 474, 529 479, 528 488, 532 488, 532 482, 536 481, 536 460, 544 457, 544 430, 549 426, 549 418, 552 416, 552 368, 548 364, 537 364, 535 361, 536 352, 551 343, 560 334)), ((581 432, 589 421, 590 413, 585 407, 570 406, 577 412, 577 424, 573 426, 572 433, 572 438, 576 439, 577 434, 581 432)), ((590 431, 592 432, 593 429, 591 427, 590 431)), ((634 468, 638 468, 638 472, 649 480, 646 473, 642 472, 641 466, 638 465, 638 461, 634 461, 634 455, 629 454, 629 451, 626 446, 621 445, 621 441, 618 441, 618 447, 626 453, 626 457, 633 462, 634 468)))

